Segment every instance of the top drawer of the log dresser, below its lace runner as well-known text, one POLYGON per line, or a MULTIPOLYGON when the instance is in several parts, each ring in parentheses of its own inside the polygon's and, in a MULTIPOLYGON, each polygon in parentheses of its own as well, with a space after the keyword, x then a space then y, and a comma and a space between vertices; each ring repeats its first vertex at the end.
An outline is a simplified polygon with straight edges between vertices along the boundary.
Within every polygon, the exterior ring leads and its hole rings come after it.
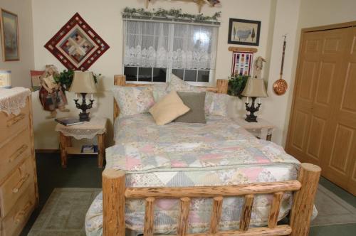
POLYGON ((6 114, 0 112, 0 146, 9 141, 9 137, 21 132, 29 124, 29 107, 28 102, 26 107, 21 108, 18 115, 6 114))

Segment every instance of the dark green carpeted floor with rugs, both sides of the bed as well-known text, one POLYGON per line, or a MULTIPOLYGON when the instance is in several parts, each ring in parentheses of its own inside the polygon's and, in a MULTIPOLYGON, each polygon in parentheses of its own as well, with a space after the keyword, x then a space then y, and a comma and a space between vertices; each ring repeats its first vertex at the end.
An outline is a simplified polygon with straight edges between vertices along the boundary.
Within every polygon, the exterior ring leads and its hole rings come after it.
MULTIPOLYGON (((95 188, 101 188, 102 170, 97 167, 97 159, 94 156, 73 156, 66 169, 61 168, 59 154, 37 154, 36 159, 40 206, 31 215, 21 235, 85 235, 83 225, 80 226, 85 217, 85 209, 99 191, 95 188), (79 198, 84 200, 78 200, 79 198), (77 204, 78 208, 74 207, 77 204), (43 212, 38 216, 42 208, 43 212), (35 220, 36 223, 33 224, 35 220), (32 225, 33 229, 28 234, 32 225), (56 228, 63 225, 67 227, 66 232, 55 234, 56 228), (38 231, 40 229, 41 233, 38 231), (52 231, 46 232, 43 229, 52 231)), ((310 228, 310 235, 355 235, 355 196, 321 178, 316 205, 319 216, 313 225, 318 226, 310 228)))

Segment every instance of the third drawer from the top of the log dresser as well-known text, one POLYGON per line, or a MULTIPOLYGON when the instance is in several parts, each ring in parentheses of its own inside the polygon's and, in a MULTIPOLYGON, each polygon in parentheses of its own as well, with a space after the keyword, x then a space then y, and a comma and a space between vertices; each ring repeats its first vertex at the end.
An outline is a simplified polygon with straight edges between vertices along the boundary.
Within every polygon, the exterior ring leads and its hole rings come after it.
POLYGON ((26 193, 28 186, 34 188, 33 164, 26 159, 0 186, 1 217, 4 218, 14 207, 16 200, 26 193))

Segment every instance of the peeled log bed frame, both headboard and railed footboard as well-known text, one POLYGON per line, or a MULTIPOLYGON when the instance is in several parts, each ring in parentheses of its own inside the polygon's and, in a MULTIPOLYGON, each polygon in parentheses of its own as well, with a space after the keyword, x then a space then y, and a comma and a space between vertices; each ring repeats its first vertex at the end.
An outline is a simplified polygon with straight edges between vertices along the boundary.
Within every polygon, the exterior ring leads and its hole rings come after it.
MULTIPOLYGON (((115 75, 115 85, 147 86, 126 84, 125 76, 115 75)), ((217 80, 216 87, 206 87, 207 90, 219 93, 227 92, 227 80, 217 80)), ((115 103, 114 117, 119 114, 115 103)), ((155 187, 127 188, 125 186, 125 171, 105 168, 103 171, 103 235, 125 235, 125 200, 145 198, 145 228, 144 235, 152 236, 154 232, 154 205, 158 198, 179 198, 180 217, 177 235, 188 235, 188 216, 191 198, 213 198, 209 232, 188 236, 208 235, 292 235, 307 236, 310 227, 310 217, 313 213, 315 193, 318 189, 321 168, 310 163, 300 165, 298 180, 271 183, 251 183, 236 186, 201 186, 201 187, 155 187), (293 205, 290 210, 289 225, 277 225, 278 213, 281 207, 283 193, 293 191, 293 205), (249 228, 253 199, 258 194, 273 194, 271 210, 266 227, 249 228), (221 208, 224 197, 244 197, 239 230, 219 231, 221 208)))

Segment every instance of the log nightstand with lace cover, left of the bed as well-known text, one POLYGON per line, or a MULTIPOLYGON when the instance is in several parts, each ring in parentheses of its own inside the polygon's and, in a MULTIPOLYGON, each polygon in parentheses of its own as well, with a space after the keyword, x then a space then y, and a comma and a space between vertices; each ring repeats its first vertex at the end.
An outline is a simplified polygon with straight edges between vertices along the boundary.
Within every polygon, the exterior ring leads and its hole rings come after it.
POLYGON ((103 117, 92 117, 90 122, 84 122, 83 124, 70 126, 65 126, 63 124, 56 125, 56 131, 59 132, 61 142, 61 164, 63 168, 67 167, 68 154, 88 155, 87 153, 82 153, 80 147, 72 146, 71 137, 75 139, 93 139, 95 136, 98 136, 98 152, 89 154, 97 154, 98 166, 99 168, 103 168, 107 121, 108 119, 103 117))

